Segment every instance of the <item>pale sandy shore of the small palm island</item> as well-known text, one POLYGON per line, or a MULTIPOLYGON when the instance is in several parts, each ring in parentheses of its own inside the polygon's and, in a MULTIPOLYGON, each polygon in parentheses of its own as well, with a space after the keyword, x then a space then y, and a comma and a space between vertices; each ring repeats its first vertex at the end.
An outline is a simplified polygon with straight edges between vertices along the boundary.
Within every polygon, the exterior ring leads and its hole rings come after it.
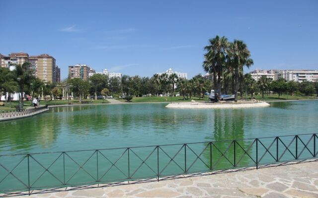
POLYGON ((266 107, 270 106, 267 102, 223 102, 223 103, 207 103, 207 102, 180 102, 169 103, 165 107, 168 108, 246 108, 246 107, 266 107))

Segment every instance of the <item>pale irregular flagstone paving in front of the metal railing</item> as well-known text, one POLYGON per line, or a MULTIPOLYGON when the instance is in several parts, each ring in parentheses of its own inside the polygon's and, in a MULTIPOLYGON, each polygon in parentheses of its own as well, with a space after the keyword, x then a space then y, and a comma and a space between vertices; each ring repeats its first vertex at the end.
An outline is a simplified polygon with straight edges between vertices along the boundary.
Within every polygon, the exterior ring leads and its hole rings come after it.
POLYGON ((318 198, 318 161, 28 198, 318 198))

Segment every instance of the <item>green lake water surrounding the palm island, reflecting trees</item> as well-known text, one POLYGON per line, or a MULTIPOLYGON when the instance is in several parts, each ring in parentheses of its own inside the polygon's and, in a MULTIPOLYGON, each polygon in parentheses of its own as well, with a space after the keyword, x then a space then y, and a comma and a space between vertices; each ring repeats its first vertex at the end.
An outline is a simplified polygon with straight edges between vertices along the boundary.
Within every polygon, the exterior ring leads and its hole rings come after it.
MULTIPOLYGON (((12 170, 20 161, 13 173, 19 175, 22 181, 12 187, 17 179, 7 176, 8 171, 0 167, 0 191, 25 189, 27 163, 31 167, 32 188, 153 177, 158 172, 170 175, 212 167, 227 168, 232 166, 233 160, 237 161, 236 165, 246 166, 253 161, 243 156, 243 150, 233 154, 234 148, 249 149, 247 153, 255 157, 253 140, 238 141, 236 146, 231 145, 232 142, 182 144, 310 134, 318 129, 317 100, 271 102, 270 107, 244 109, 170 109, 165 108, 166 104, 56 107, 33 117, 0 122, 0 155, 92 149, 35 154, 29 156, 29 162, 26 155, 0 156, 0 163, 7 170, 12 170), (166 144, 181 145, 126 149, 166 144), (94 150, 104 148, 122 149, 94 150), (214 158, 223 156, 220 150, 228 150, 224 154, 228 159, 214 158), (142 161, 147 164, 140 165, 142 161), (114 164, 116 167, 112 166, 114 164), (84 165, 85 171, 79 168, 81 165, 84 165), (45 172, 48 167, 55 177, 45 172), (79 172, 76 172, 78 168, 79 172), (107 172, 108 168, 111 171, 107 172), (41 169, 43 175, 39 171, 41 169)), ((303 141, 311 141, 310 138, 304 137, 303 141)), ((272 141, 264 140, 263 144, 269 147, 272 141)), ((286 141, 288 145, 292 139, 287 137, 286 141)), ((295 142, 291 142, 291 147, 295 142)), ((308 148, 313 147, 310 142, 308 148)), ((261 162, 273 160, 264 148, 258 149, 264 153, 262 160, 265 161, 261 162)), ((269 150, 276 153, 274 147, 269 150)), ((279 150, 280 154, 284 154, 283 150, 279 150)), ((292 154, 287 154, 282 155, 281 160, 284 157, 289 160, 292 154)), ((302 155, 310 157, 311 153, 305 150, 302 155)))

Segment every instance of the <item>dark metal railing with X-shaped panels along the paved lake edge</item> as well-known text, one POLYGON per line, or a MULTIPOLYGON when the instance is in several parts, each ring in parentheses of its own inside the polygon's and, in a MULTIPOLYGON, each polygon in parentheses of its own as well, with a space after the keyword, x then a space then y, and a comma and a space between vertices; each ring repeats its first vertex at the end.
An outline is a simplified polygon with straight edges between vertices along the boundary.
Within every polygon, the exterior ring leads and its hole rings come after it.
MULTIPOLYGON (((317 134, 147 147, 0 155, 2 196, 317 157, 317 134), (34 192, 33 192, 34 191, 34 192), (15 192, 15 193, 9 193, 15 192), (20 192, 20 193, 16 193, 20 192)), ((1 194, 0 194, 1 197, 1 194)))

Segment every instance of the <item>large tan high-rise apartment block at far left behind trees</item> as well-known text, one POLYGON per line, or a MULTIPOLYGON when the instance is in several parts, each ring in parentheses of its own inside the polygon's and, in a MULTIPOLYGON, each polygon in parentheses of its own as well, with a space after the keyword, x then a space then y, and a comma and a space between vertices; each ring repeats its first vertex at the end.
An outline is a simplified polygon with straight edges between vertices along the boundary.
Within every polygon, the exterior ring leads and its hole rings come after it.
POLYGON ((10 70, 14 70, 16 64, 22 65, 25 62, 30 62, 33 75, 44 82, 61 81, 60 68, 57 68, 55 58, 47 53, 31 56, 24 52, 10 53, 7 56, 0 54, 0 66, 10 70))

